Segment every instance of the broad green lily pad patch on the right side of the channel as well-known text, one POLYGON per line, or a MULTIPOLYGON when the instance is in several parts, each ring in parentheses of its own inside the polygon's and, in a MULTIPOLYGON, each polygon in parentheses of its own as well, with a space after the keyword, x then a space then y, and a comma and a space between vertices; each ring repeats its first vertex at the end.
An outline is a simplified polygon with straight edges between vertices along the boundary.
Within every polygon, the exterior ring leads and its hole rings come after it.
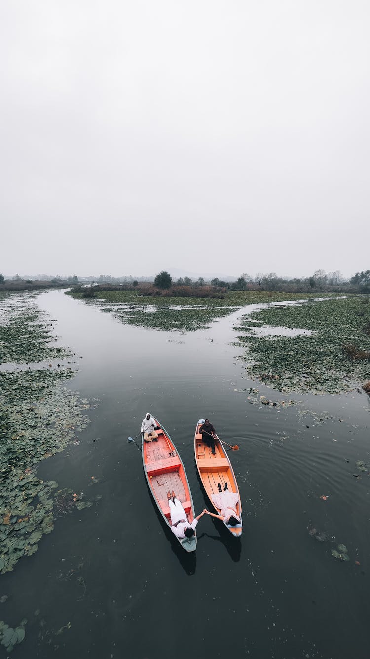
POLYGON ((349 391, 354 382, 369 377, 367 359, 348 360, 342 346, 356 344, 369 353, 370 338, 363 332, 370 311, 359 316, 358 297, 310 301, 284 308, 270 306, 243 318, 237 331, 248 327, 250 318, 269 326, 310 329, 314 335, 295 337, 257 337, 239 335, 239 345, 248 350, 244 360, 248 373, 279 391, 349 391))

